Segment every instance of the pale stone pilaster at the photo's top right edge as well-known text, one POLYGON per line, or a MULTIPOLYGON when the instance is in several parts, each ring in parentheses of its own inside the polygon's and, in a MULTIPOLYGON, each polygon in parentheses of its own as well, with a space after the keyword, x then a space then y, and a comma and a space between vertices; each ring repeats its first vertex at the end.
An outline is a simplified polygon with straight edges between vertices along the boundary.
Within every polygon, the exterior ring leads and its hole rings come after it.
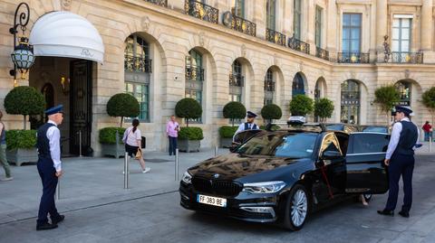
POLYGON ((432 49, 432 0, 424 0, 421 7, 421 30, 420 50, 431 51, 432 49))

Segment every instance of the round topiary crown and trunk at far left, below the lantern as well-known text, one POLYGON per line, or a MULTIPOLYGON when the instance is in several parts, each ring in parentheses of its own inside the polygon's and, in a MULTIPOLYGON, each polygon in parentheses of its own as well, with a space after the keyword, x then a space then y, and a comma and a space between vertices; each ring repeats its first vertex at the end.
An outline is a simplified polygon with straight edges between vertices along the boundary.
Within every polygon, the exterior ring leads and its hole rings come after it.
POLYGON ((28 115, 39 115, 45 109, 43 94, 33 87, 15 87, 5 97, 5 110, 7 114, 23 115, 24 130, 28 115))

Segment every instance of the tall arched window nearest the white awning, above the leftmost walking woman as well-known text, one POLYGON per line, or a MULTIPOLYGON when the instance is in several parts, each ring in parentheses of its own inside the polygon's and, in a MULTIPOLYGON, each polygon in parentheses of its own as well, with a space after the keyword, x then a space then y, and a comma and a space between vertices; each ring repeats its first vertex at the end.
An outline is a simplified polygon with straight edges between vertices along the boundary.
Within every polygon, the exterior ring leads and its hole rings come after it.
POLYGON ((127 38, 124 50, 125 90, 138 99, 139 119, 150 121, 150 44, 139 35, 127 38))

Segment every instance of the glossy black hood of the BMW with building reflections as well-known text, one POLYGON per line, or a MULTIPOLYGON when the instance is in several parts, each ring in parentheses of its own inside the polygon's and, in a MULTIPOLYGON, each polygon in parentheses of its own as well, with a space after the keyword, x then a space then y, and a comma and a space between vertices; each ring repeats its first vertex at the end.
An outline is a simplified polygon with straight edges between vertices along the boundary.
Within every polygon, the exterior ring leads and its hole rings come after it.
POLYGON ((218 179, 235 180, 250 174, 274 170, 288 164, 295 164, 302 159, 272 157, 262 155, 226 154, 210 158, 189 169, 195 176, 213 178, 218 174, 218 179))

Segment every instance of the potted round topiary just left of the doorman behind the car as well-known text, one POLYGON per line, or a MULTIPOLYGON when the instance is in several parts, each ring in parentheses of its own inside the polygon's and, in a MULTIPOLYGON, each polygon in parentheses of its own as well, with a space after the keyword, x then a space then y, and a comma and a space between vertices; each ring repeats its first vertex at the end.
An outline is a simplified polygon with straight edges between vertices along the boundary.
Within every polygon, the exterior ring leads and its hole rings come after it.
POLYGON ((233 142, 233 136, 237 131, 238 126, 234 126, 235 119, 243 119, 247 116, 247 108, 240 102, 231 101, 225 105, 223 109, 225 118, 231 120, 231 126, 220 126, 220 146, 230 147, 233 142))

